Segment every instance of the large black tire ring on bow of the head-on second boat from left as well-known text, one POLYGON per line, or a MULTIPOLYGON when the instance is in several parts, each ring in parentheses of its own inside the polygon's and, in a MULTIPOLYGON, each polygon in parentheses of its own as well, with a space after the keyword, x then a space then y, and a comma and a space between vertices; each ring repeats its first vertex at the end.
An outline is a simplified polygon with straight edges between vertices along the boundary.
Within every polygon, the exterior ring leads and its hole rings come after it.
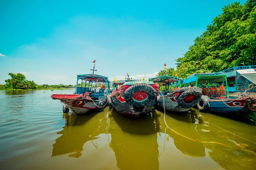
POLYGON ((136 83, 129 87, 124 93, 125 102, 132 106, 153 106, 157 98, 157 91, 146 83, 136 83), (133 95, 138 91, 145 91, 148 94, 148 99, 142 102, 136 102, 133 95))

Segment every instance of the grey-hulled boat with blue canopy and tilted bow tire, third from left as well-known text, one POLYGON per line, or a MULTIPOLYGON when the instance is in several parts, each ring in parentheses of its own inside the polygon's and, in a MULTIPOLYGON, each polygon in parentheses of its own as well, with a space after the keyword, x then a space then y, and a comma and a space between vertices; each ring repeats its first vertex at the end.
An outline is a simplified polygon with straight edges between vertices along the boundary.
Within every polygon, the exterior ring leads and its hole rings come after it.
POLYGON ((181 78, 163 75, 149 80, 157 83, 160 91, 165 91, 157 95, 156 106, 167 111, 189 111, 201 99, 201 88, 179 88, 183 81, 181 78))

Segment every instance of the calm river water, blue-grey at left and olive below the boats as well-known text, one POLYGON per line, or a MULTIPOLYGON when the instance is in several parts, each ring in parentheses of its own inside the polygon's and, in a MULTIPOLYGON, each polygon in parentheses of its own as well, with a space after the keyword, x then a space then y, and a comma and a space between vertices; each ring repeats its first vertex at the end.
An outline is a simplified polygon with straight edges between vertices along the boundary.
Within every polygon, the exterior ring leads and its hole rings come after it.
POLYGON ((1 170, 256 170, 256 126, 195 109, 63 114, 50 96, 72 93, 0 91, 1 170))

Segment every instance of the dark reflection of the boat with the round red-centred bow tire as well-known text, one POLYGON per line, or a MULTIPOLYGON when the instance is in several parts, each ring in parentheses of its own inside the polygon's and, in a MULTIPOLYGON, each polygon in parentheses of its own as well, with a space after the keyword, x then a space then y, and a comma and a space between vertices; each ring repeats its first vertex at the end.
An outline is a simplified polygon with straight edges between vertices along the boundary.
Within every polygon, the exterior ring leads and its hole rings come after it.
POLYGON ((153 111, 146 117, 129 119, 113 111, 112 116, 116 123, 110 124, 110 147, 115 152, 117 167, 120 170, 158 170, 160 125, 157 113, 153 111))

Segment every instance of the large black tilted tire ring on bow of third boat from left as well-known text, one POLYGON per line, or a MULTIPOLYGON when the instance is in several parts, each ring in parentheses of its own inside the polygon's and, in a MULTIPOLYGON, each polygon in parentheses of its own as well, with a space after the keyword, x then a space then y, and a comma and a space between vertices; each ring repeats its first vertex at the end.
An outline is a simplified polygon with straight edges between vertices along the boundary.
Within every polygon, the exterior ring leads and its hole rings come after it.
POLYGON ((178 96, 177 98, 178 105, 182 108, 192 108, 201 99, 202 89, 201 88, 183 88, 183 89, 185 89, 186 91, 184 91, 182 94, 180 94, 180 96, 178 96), (190 103, 184 102, 185 97, 192 94, 195 95, 195 99, 190 103))

